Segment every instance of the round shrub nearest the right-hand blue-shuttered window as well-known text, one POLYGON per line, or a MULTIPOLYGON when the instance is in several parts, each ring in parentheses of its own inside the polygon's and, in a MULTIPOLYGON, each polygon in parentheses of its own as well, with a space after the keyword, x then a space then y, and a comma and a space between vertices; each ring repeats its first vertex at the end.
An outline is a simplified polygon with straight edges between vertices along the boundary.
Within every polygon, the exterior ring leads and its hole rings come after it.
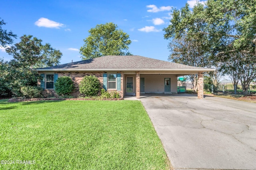
POLYGON ((97 96, 100 90, 100 80, 95 76, 85 76, 79 84, 79 91, 86 96, 97 96))

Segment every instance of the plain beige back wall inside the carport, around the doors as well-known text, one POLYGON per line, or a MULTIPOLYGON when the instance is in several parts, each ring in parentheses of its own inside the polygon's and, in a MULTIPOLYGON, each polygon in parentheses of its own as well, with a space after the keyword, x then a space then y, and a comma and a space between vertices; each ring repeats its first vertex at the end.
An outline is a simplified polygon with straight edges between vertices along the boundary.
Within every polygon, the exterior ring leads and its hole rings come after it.
POLYGON ((175 74, 140 74, 140 78, 145 78, 145 93, 164 93, 164 78, 171 78, 171 92, 177 93, 175 74))

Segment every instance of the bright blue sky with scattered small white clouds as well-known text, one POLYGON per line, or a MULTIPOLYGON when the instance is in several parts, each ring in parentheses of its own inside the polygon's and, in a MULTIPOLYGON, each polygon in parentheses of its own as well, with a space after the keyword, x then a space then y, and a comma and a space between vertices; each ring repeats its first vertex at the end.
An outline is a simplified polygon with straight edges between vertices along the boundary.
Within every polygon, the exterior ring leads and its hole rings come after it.
MULTIPOLYGON (((80 61, 88 30, 107 22, 130 35, 133 55, 168 61, 169 40, 162 29, 169 25, 171 8, 180 9, 186 2, 192 7, 196 0, 8 0, 0 5, 0 18, 7 23, 2 29, 18 37, 33 35, 59 49, 60 64, 80 61)), ((0 48, 2 57, 12 59, 0 48)))

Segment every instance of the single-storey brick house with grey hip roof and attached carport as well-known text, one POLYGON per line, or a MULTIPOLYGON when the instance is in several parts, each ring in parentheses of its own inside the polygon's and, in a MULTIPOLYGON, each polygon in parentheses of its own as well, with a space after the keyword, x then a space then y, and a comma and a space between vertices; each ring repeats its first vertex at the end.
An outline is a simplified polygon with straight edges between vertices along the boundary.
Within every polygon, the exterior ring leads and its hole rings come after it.
POLYGON ((80 95, 79 83, 85 76, 94 75, 108 92, 117 91, 120 96, 141 93, 177 93, 177 77, 198 74, 198 98, 203 98, 203 72, 211 68, 199 68, 170 63, 141 56, 104 56, 85 61, 38 68, 43 79, 38 86, 43 95, 56 96, 54 82, 58 77, 70 76, 75 84, 72 96, 80 95))

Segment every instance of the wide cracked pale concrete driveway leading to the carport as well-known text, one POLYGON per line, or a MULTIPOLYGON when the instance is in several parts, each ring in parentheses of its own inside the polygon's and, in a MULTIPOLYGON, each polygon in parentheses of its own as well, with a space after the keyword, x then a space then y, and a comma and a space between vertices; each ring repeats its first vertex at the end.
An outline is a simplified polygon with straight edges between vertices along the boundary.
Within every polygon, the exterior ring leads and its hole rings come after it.
POLYGON ((175 170, 256 170, 256 104, 190 94, 140 100, 175 170))

